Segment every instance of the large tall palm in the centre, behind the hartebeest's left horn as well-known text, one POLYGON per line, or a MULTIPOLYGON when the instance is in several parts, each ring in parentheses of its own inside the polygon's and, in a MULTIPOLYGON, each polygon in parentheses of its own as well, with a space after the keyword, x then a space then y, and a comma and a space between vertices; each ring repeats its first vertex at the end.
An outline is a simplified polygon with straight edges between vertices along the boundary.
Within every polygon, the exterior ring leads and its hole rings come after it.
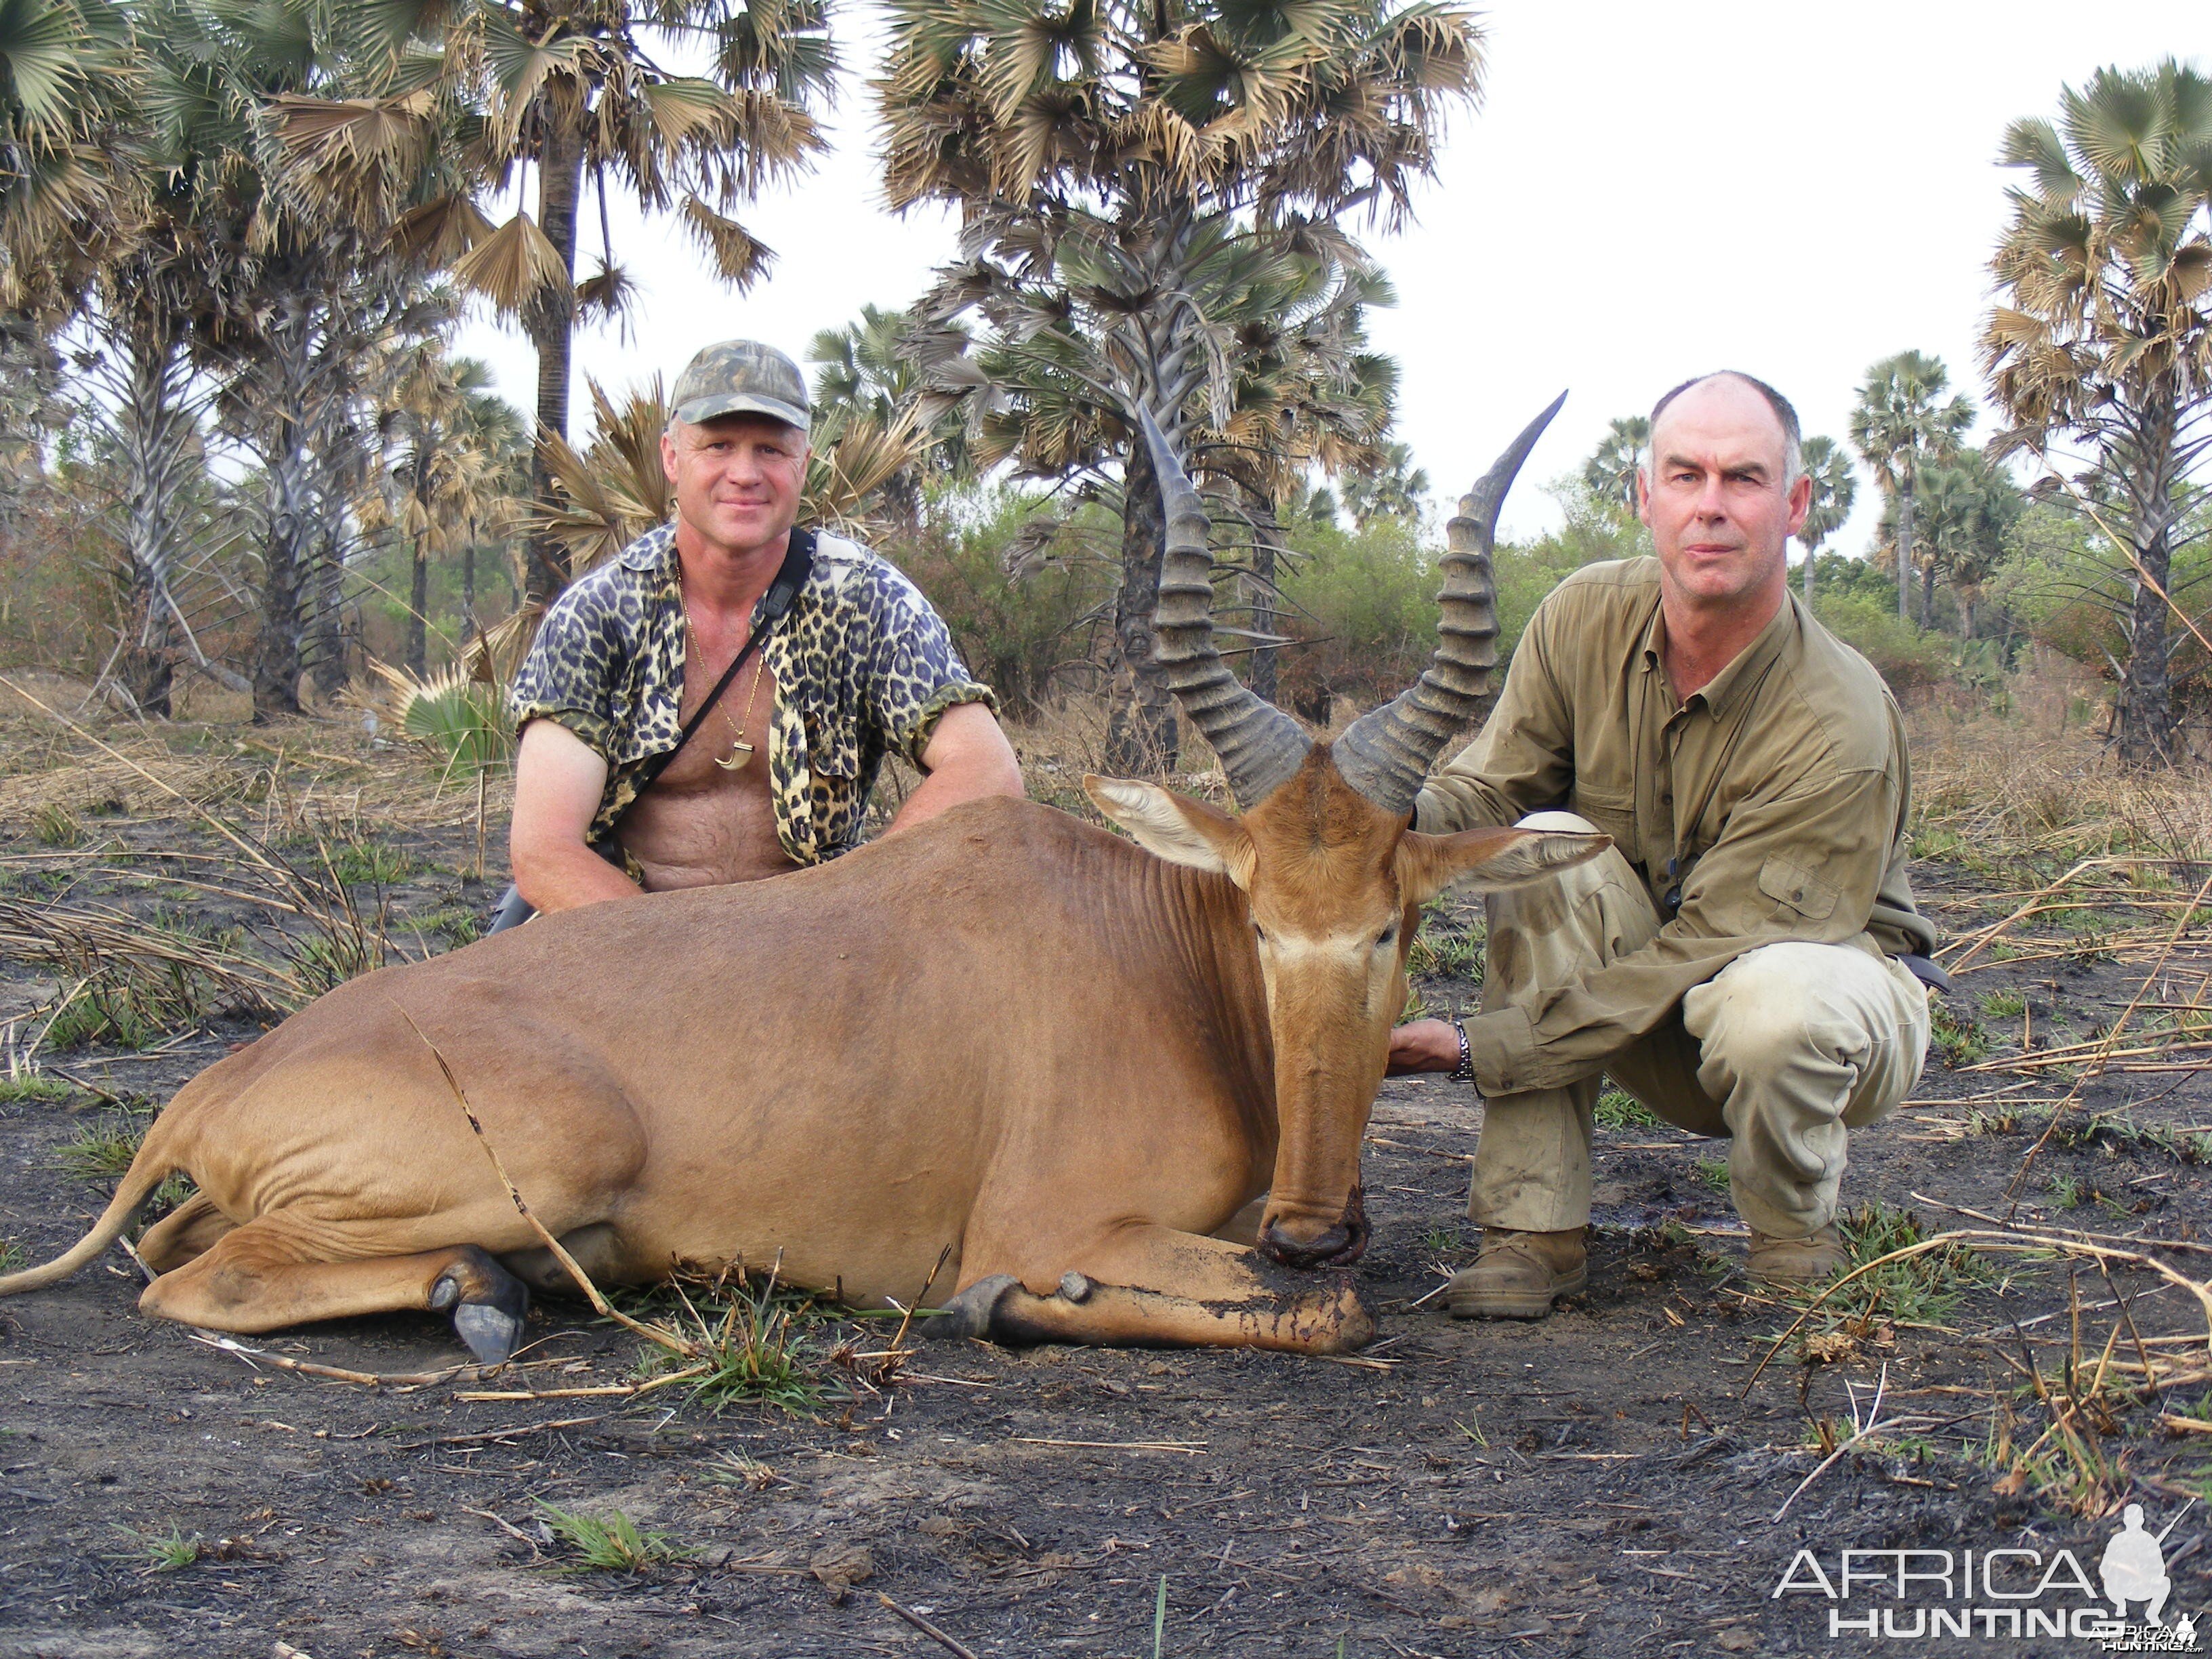
POLYGON ((1139 411, 1183 449, 1199 422, 1228 436, 1237 334, 1208 294, 1287 279, 1270 274, 1279 261, 1363 268, 1338 219, 1402 223, 1444 115, 1478 95, 1480 29, 1455 7, 1400 0, 889 11, 878 95, 891 206, 942 201, 964 223, 927 321, 984 312, 998 338, 969 367, 995 358, 1037 389, 978 420, 984 445, 1020 449, 1042 476, 1119 467, 1115 759, 1172 757, 1172 699, 1152 664, 1166 526, 1133 442, 1139 411), (1006 425, 1026 431, 993 438, 1006 425))

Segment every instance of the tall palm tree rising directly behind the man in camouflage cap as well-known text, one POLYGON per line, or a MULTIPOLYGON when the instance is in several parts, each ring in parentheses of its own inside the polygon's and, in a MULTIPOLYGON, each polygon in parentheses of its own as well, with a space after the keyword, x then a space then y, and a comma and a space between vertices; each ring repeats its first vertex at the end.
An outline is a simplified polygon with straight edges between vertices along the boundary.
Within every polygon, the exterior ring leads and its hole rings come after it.
MULTIPOLYGON (((343 199, 361 223, 520 321, 538 349, 538 431, 566 438, 580 314, 619 312, 633 279, 615 261, 608 192, 672 212, 714 270, 745 288, 772 252, 732 208, 823 148, 810 104, 834 60, 827 0, 354 0, 387 66, 354 97, 290 97, 276 131, 299 188, 343 199), (701 64, 677 75, 670 60, 701 64), (440 190, 394 195, 380 170, 462 133, 467 166, 440 190), (535 175, 538 212, 522 204, 535 175), (493 226, 476 197, 518 197, 493 226), (599 270, 575 281, 586 186, 597 201, 599 270)), ((551 451, 531 493, 555 509, 551 451)), ((533 531, 526 586, 544 599, 568 580, 560 544, 533 531)))

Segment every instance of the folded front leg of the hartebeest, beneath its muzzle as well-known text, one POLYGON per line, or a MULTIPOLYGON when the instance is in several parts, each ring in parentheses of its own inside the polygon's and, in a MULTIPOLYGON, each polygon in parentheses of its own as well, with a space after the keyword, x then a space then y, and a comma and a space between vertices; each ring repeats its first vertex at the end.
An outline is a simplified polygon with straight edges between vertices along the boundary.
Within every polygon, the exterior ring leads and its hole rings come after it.
POLYGON ((931 1334, 993 1343, 1106 1347, 1272 1347, 1343 1354, 1374 1340, 1376 1316, 1349 1274, 1279 1267, 1254 1250, 1175 1228, 1133 1225, 1071 1252, 1057 1287, 984 1267, 931 1334))

